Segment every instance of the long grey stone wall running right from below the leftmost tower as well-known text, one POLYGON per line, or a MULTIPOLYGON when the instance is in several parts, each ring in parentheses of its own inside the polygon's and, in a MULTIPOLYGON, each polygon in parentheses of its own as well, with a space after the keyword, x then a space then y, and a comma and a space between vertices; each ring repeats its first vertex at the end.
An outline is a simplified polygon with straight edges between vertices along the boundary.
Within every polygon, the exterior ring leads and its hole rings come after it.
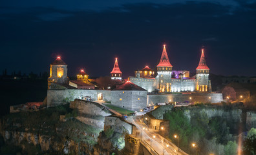
POLYGON ((85 89, 64 89, 64 90, 47 90, 47 107, 63 105, 79 99, 81 96, 91 96, 92 100, 98 100, 98 94, 103 94, 104 101, 111 101, 110 90, 85 90, 85 89))

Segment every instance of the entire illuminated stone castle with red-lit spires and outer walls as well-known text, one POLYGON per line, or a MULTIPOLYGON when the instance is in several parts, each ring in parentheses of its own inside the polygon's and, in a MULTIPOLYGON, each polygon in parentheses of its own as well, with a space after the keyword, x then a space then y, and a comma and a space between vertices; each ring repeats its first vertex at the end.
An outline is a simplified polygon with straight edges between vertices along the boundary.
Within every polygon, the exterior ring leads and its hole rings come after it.
POLYGON ((131 110, 140 110, 156 103, 219 103, 222 94, 211 92, 209 68, 206 65, 204 49, 196 68, 195 78, 187 70, 173 70, 165 49, 160 62, 152 70, 148 66, 135 71, 135 77, 122 79, 122 72, 115 59, 111 80, 116 85, 109 89, 98 88, 84 70, 76 80, 67 77, 67 64, 60 58, 50 64, 48 78, 47 107, 69 103, 74 99, 103 100, 112 105, 131 110))

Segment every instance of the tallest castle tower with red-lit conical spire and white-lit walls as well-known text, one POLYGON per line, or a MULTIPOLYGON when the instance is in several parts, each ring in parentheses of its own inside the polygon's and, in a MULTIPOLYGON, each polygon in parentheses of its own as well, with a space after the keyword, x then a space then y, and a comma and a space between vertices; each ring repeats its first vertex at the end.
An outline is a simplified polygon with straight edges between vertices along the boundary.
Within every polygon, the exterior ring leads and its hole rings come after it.
POLYGON ((169 61, 169 57, 167 55, 165 45, 162 52, 162 56, 160 62, 157 65, 157 74, 158 74, 158 88, 160 92, 171 92, 171 72, 173 70, 173 66, 169 61))

